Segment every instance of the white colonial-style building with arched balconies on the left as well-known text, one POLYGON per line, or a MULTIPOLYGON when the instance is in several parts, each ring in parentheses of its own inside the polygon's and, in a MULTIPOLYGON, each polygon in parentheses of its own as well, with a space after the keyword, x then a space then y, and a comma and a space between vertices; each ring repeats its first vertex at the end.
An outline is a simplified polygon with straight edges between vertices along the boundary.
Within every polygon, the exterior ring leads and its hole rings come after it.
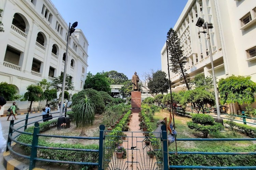
MULTIPOLYGON (((0 81, 15 85, 23 95, 27 86, 58 77, 68 62, 67 74, 75 87, 70 96, 81 91, 88 67, 88 41, 82 30, 69 37, 66 57, 68 25, 50 0, 0 0, 0 8, 0 81)), ((18 103, 20 108, 27 105, 18 103)))

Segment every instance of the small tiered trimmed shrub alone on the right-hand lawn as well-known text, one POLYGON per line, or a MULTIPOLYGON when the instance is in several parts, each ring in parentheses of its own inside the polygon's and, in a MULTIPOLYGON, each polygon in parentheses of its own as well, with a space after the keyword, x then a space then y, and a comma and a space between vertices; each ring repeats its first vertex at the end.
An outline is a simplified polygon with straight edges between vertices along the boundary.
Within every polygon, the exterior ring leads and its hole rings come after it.
POLYGON ((217 132, 224 129, 221 123, 215 122, 214 118, 206 114, 193 114, 192 121, 187 122, 188 128, 200 131, 207 138, 209 132, 217 132))

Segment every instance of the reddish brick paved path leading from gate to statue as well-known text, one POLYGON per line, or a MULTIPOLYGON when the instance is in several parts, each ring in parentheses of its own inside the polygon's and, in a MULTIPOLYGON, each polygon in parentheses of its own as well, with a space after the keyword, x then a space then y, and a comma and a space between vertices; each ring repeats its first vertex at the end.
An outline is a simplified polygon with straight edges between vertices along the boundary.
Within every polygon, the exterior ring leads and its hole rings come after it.
MULTIPOLYGON (((123 140, 123 147, 127 151, 127 158, 117 159, 116 153, 114 152, 112 160, 109 163, 108 169, 120 169, 120 170, 155 170, 157 168, 155 156, 151 158, 147 155, 147 151, 151 150, 151 144, 146 146, 143 140, 145 136, 139 126, 139 114, 133 113, 130 121, 130 131, 125 132, 127 137, 123 140), (136 147, 133 149, 133 154, 131 147, 136 147), (133 155, 133 160, 132 160, 133 155)), ((152 149, 153 150, 153 149, 152 149)))

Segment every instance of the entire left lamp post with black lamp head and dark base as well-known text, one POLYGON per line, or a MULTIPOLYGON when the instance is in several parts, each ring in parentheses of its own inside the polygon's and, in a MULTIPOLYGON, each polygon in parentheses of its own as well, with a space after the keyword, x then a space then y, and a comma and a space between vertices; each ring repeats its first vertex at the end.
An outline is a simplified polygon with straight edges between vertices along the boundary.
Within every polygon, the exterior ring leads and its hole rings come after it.
MULTIPOLYGON (((64 92, 65 92, 65 84, 66 84, 66 72, 67 72, 67 65, 68 65, 68 49, 69 49, 69 37, 71 34, 75 31, 75 28, 77 26, 78 22, 74 22, 71 26, 71 23, 69 23, 69 30, 68 30, 68 36, 67 36, 67 49, 66 49, 66 58, 65 58, 65 65, 64 65, 64 72, 63 72, 63 83, 62 83, 62 91, 61 91, 61 101, 60 101, 60 117, 58 118, 58 125, 57 128, 59 128, 59 125, 62 123, 65 123, 65 117, 62 117, 63 112, 63 100, 64 100, 64 92), (71 28, 70 28, 71 26, 71 28)), ((66 115, 66 113, 65 113, 66 115)))

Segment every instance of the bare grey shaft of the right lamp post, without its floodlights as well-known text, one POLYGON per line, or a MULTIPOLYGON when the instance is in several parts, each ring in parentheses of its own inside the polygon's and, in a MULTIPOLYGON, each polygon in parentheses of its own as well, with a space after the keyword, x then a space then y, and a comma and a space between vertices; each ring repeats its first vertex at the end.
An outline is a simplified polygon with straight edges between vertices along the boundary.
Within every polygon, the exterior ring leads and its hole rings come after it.
POLYGON ((212 77, 213 77, 213 86, 214 86, 214 95, 215 95, 215 101, 216 101, 217 116, 218 116, 218 118, 221 118, 221 113, 219 112, 218 90, 217 90, 217 85, 216 85, 216 78, 215 78, 213 59, 212 59, 212 48, 211 48, 211 42, 210 42, 210 34, 209 34, 209 28, 208 28, 207 22, 206 22, 206 29, 207 29, 208 44, 209 44, 209 51, 210 51, 210 58, 211 58, 211 65, 212 65, 212 77))

